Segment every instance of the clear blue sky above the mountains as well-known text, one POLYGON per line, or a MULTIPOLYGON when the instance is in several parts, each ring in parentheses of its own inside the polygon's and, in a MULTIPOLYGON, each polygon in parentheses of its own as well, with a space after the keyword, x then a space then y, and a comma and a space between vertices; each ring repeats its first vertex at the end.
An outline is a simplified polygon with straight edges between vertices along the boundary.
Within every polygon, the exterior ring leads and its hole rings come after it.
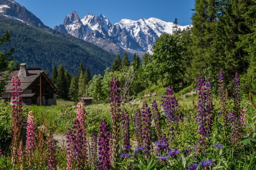
POLYGON ((194 0, 15 0, 34 13, 45 25, 62 24, 65 16, 76 11, 80 18, 88 13, 103 14, 115 24, 121 19, 159 18, 178 24, 191 24, 194 0))

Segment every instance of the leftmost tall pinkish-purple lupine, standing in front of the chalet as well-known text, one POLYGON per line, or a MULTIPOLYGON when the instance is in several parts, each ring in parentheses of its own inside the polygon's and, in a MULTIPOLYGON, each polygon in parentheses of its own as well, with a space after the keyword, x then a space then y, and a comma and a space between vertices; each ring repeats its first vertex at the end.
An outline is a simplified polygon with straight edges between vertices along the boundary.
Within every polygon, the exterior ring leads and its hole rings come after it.
POLYGON ((11 97, 11 107, 13 110, 12 112, 12 125, 10 127, 11 134, 13 136, 11 140, 11 156, 13 159, 18 162, 18 148, 20 145, 20 129, 21 129, 21 116, 22 116, 22 97, 20 97, 22 89, 20 88, 20 79, 18 79, 17 75, 13 75, 12 77, 12 86, 11 88, 12 92, 11 94, 13 97, 11 97))

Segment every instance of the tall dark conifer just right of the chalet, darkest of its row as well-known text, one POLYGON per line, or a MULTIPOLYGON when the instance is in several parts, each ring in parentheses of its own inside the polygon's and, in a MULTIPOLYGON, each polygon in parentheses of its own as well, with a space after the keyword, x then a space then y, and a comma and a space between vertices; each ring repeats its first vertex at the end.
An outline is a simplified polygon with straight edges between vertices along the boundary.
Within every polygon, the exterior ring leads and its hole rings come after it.
POLYGON ((66 87, 66 79, 65 79, 64 72, 65 72, 64 67, 61 64, 58 67, 58 77, 56 79, 56 86, 58 89, 58 96, 62 99, 66 99, 67 94, 68 94, 68 89, 66 87))

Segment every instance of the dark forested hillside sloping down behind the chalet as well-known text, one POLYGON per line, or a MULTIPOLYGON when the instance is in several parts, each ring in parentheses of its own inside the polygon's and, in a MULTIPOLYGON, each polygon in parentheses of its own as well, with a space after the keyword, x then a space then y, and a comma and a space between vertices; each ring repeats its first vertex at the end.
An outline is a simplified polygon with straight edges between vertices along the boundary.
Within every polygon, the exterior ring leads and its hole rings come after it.
POLYGON ((14 60, 27 63, 28 68, 39 67, 52 73, 53 66, 63 64, 70 73, 76 74, 82 61, 94 75, 103 74, 115 59, 111 53, 89 42, 50 28, 35 28, 5 16, 0 16, 0 23, 0 35, 11 31, 11 42, 0 46, 0 51, 14 47, 14 60))

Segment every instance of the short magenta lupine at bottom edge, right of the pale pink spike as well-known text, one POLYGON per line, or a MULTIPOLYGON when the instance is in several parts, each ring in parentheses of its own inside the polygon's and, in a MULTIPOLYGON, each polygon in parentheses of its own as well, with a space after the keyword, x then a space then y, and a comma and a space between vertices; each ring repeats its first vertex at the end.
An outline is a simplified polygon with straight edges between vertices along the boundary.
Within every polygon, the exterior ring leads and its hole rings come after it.
POLYGON ((56 160, 56 143, 53 135, 49 136, 47 141, 47 152, 48 152, 48 170, 57 170, 57 160, 56 160))

